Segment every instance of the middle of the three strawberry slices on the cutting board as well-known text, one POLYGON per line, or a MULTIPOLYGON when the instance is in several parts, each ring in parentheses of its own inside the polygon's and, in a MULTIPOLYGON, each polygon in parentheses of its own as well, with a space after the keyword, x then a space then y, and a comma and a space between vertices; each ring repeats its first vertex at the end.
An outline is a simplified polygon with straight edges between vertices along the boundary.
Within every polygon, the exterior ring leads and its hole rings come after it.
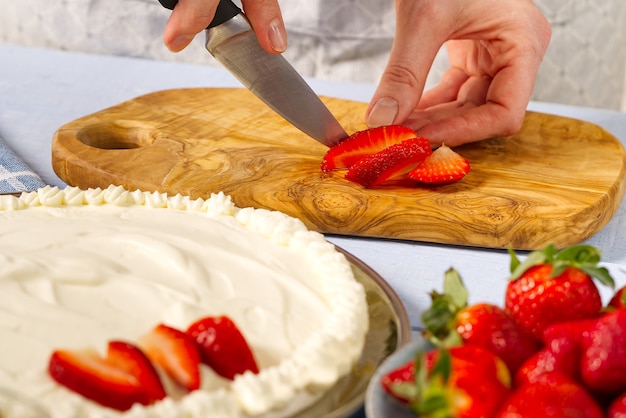
POLYGON ((426 138, 411 138, 362 158, 350 167, 345 178, 367 188, 374 187, 406 175, 431 153, 426 138))

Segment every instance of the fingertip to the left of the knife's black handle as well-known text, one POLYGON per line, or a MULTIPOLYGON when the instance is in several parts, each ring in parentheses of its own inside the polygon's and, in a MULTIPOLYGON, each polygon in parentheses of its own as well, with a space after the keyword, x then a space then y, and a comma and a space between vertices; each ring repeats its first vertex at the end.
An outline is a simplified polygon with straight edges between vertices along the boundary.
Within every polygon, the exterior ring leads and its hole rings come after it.
POLYGON ((198 33, 209 26, 217 3, 217 0, 179 0, 163 31, 165 46, 172 52, 187 47, 198 33))

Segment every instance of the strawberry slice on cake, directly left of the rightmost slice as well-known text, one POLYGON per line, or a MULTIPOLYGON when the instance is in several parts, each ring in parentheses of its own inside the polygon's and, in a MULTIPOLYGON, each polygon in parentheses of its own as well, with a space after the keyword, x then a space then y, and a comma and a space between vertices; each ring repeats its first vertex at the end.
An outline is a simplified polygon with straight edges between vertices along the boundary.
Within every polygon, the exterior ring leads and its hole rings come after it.
POLYGON ((200 352, 185 332, 159 324, 139 339, 139 346, 180 387, 188 392, 200 388, 200 352))

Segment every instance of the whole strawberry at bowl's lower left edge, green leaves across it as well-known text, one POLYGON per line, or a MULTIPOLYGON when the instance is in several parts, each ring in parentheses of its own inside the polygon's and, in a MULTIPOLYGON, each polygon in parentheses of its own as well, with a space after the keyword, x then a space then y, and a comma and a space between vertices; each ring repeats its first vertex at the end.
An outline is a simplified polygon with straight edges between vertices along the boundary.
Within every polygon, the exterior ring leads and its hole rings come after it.
POLYGON ((502 360, 469 345, 418 353, 383 376, 381 384, 421 418, 492 417, 510 393, 502 360))

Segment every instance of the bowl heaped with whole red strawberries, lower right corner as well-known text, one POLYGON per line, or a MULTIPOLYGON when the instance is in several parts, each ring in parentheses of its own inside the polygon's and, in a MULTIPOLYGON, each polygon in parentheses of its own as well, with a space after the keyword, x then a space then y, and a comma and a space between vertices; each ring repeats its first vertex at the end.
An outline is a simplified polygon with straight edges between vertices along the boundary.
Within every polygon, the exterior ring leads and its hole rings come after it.
POLYGON ((422 335, 373 376, 368 418, 626 417, 626 286, 589 245, 509 253, 501 304, 470 303, 446 272, 422 335))

